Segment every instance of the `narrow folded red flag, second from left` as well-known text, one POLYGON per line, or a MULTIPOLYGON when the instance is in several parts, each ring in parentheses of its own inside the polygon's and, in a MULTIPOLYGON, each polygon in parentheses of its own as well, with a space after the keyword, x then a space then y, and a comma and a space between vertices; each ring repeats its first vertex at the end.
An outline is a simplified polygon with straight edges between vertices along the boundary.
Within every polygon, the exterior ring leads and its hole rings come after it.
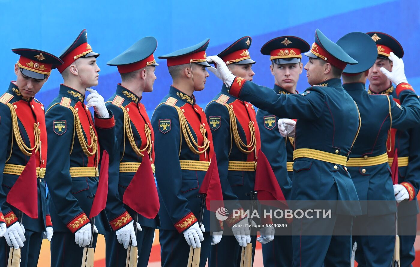
POLYGON ((92 208, 90 209, 89 218, 98 215, 106 206, 108 198, 108 168, 109 155, 106 150, 102 153, 101 169, 99 173, 99 183, 96 189, 95 199, 93 199, 92 208))

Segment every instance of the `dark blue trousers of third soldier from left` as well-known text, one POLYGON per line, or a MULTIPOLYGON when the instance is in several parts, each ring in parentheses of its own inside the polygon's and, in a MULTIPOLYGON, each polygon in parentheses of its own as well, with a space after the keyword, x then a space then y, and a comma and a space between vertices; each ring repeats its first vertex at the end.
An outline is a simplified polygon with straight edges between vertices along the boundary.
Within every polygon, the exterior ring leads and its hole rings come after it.
MULTIPOLYGON (((155 228, 142 226, 142 231, 137 231, 137 251, 139 259, 137 267, 147 267, 149 263, 150 251, 152 250, 153 234, 155 228)), ((107 267, 125 267, 127 249, 117 240, 115 232, 107 232, 105 234, 106 256, 105 262, 107 267)))

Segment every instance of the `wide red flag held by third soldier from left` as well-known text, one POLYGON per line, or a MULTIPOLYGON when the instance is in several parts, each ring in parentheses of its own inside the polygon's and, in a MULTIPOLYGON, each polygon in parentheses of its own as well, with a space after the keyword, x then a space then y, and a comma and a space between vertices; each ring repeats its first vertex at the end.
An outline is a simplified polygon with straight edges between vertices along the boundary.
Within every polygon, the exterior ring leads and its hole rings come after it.
POLYGON ((123 202, 148 219, 155 218, 159 212, 159 196, 148 154, 144 154, 142 164, 127 186, 123 202))

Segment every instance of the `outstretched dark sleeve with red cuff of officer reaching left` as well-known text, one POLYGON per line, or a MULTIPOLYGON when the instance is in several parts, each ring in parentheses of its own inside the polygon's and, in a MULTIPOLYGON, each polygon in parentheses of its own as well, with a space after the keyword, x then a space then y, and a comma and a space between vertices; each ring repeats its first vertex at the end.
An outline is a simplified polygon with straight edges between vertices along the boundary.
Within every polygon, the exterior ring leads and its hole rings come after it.
POLYGON ((316 120, 325 108, 325 93, 318 86, 303 94, 276 94, 273 89, 236 77, 229 94, 251 102, 280 118, 316 120))

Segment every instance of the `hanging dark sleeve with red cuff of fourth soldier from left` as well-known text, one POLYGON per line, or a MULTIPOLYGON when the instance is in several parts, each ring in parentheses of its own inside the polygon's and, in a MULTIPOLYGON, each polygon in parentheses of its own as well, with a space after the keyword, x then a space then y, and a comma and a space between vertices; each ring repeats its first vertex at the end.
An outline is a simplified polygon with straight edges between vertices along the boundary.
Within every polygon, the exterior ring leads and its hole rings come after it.
POLYGON ((151 123, 155 133, 155 174, 163 200, 160 208, 168 211, 172 224, 182 233, 197 221, 198 214, 194 215, 188 208, 188 200, 181 191, 183 180, 179 162, 181 132, 178 113, 174 107, 160 105, 151 123), (183 224, 187 219, 189 223, 183 224))

